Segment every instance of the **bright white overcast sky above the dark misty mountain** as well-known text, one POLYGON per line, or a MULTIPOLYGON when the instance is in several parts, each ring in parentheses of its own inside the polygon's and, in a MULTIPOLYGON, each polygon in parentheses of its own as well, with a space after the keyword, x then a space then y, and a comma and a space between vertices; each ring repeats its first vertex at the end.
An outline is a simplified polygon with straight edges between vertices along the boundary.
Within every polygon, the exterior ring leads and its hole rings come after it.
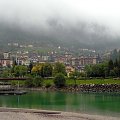
POLYGON ((57 20, 76 28, 79 22, 96 23, 119 34, 120 0, 0 0, 0 20, 44 30, 57 20))

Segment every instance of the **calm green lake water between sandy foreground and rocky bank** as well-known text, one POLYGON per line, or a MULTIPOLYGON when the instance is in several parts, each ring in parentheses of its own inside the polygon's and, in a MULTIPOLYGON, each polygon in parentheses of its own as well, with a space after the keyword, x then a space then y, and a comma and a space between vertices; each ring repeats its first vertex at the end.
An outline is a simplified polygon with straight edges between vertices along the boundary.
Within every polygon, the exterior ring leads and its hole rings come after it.
POLYGON ((0 106, 120 116, 120 95, 34 91, 0 96, 0 106))

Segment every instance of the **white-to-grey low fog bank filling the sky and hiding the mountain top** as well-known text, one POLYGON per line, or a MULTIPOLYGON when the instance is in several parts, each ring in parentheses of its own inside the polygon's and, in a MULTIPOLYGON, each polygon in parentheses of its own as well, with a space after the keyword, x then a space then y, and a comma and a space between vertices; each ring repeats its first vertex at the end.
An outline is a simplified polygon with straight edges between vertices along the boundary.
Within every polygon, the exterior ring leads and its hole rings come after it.
POLYGON ((63 41, 115 41, 120 33, 119 4, 119 0, 0 0, 0 23, 63 41))

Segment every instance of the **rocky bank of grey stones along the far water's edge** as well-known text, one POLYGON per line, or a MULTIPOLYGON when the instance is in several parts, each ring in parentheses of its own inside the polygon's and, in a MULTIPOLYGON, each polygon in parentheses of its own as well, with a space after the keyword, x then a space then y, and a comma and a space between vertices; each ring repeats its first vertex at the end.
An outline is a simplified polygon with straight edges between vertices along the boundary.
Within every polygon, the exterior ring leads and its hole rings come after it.
MULTIPOLYGON (((29 88, 28 88, 29 89, 29 88)), ((84 84, 84 85, 69 85, 63 88, 56 88, 55 86, 50 86, 46 88, 45 86, 40 88, 30 88, 30 90, 40 90, 40 91, 65 91, 65 92, 81 92, 81 93, 120 93, 119 84, 84 84)))

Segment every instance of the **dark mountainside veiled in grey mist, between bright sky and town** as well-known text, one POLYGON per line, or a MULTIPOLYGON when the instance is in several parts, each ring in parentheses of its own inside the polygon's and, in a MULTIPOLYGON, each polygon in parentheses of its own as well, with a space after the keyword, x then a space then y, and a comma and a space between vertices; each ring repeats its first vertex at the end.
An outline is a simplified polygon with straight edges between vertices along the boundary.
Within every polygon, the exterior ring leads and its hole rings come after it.
POLYGON ((19 24, 0 23, 0 42, 32 43, 43 46, 67 46, 74 48, 106 49, 120 45, 119 38, 109 33, 109 28, 98 24, 78 23, 75 26, 62 25, 59 20, 47 21, 48 29, 21 27, 19 24))

